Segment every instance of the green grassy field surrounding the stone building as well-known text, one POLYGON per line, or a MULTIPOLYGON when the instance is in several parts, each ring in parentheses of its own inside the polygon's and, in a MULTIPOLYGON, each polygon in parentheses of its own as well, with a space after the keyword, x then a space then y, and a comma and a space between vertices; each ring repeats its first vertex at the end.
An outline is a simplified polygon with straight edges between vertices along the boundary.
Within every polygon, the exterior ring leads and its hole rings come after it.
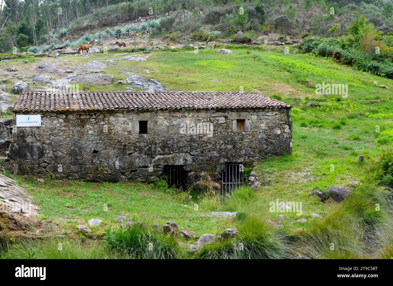
MULTIPOLYGON (((40 206, 42 219, 50 218, 59 224, 64 233, 76 233, 77 224, 93 217, 104 220, 102 226, 94 229, 97 233, 102 233, 108 226, 116 226, 114 218, 119 215, 135 216, 151 224, 173 220, 180 229, 193 231, 196 237, 204 233, 219 234, 228 227, 246 227, 239 224, 239 220, 203 216, 215 210, 246 212, 258 217, 254 225, 263 221, 272 227, 265 229, 261 226, 261 231, 280 231, 287 235, 302 233, 305 229, 312 233, 317 226, 324 223, 329 225, 331 220, 345 221, 341 215, 343 203, 337 204, 332 200, 322 203, 308 194, 317 188, 323 190, 334 186, 351 189, 360 182, 366 185, 369 183, 370 163, 383 150, 389 150, 393 142, 393 80, 358 72, 348 66, 310 55, 284 54, 241 46, 227 48, 234 53, 221 55, 216 49, 199 49, 198 53, 192 50, 154 51, 147 61, 116 61, 114 66, 105 69, 105 73, 114 75, 116 82, 127 77, 121 73, 143 74, 142 70, 148 69, 152 71, 149 77, 160 81, 167 90, 260 91, 294 106, 293 154, 266 159, 255 166, 262 186, 252 196, 226 201, 203 196, 192 199, 185 193, 173 194, 157 189, 154 185, 140 183, 86 183, 49 179, 39 183, 34 178, 17 178, 40 206), (221 82, 211 79, 220 79, 221 82), (375 84, 375 81, 378 83, 375 84), (316 94, 315 86, 322 82, 348 84, 348 97, 316 94), (380 88, 380 84, 387 88, 380 88), (308 106, 306 103, 319 106, 308 106), (358 162, 359 155, 365 156, 362 164, 358 162), (269 203, 276 199, 302 202, 303 214, 286 213, 285 220, 277 218, 277 213, 269 212, 269 203), (198 204, 197 209, 194 204, 198 204), (105 210, 105 205, 108 210, 105 210), (311 213, 318 213, 321 218, 311 218, 311 213), (339 214, 341 220, 332 219, 339 214), (297 222, 299 218, 307 218, 307 222, 297 222)), ((108 55, 111 58, 118 57, 116 53, 108 55)), ((105 62, 108 55, 99 54, 94 57, 94 61, 105 62)), ((92 60, 73 56, 66 58, 74 64, 92 60)), ((123 90, 124 87, 122 84, 112 84, 99 89, 123 90)), ((93 89, 89 86, 86 88, 93 89)), ((353 197, 353 201, 358 198, 357 195, 353 197)), ((361 201, 365 204, 365 201, 369 203, 368 200, 361 201)), ((367 204, 367 207, 372 207, 374 201, 370 199, 370 202, 371 206, 367 204)), ((389 205, 384 207, 384 213, 388 214, 389 205)), ((356 216, 357 213, 358 209, 351 215, 356 216)), ((351 220, 348 221, 351 224, 351 220)), ((361 225, 362 222, 359 222, 361 225)), ((351 236, 355 236, 353 230, 348 231, 351 236)), ((250 231, 246 229, 244 232, 250 231)), ((247 237, 242 239, 246 241, 247 237)), ((182 240, 186 243, 195 241, 182 240)), ((389 239, 384 241, 387 242, 384 247, 391 249, 389 239)), ((299 246, 302 247, 304 245, 299 246)), ((288 251, 290 248, 286 249, 288 251)), ((325 258, 362 256, 359 254, 361 251, 357 251, 356 255, 355 252, 319 255, 325 258)), ((207 247, 203 253, 201 258, 217 257, 207 247)), ((261 253, 259 255, 266 258, 283 257, 261 253)), ((367 253, 364 257, 370 257, 370 252, 367 253)))

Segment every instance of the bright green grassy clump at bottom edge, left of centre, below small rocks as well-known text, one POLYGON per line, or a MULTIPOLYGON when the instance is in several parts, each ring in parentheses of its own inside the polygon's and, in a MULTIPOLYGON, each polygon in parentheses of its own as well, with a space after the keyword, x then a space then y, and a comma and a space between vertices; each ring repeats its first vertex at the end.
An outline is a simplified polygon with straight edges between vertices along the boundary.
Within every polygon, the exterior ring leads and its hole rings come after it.
POLYGON ((110 249, 125 252, 135 259, 180 259, 184 249, 176 238, 164 236, 138 224, 119 229, 107 229, 104 240, 110 249))

